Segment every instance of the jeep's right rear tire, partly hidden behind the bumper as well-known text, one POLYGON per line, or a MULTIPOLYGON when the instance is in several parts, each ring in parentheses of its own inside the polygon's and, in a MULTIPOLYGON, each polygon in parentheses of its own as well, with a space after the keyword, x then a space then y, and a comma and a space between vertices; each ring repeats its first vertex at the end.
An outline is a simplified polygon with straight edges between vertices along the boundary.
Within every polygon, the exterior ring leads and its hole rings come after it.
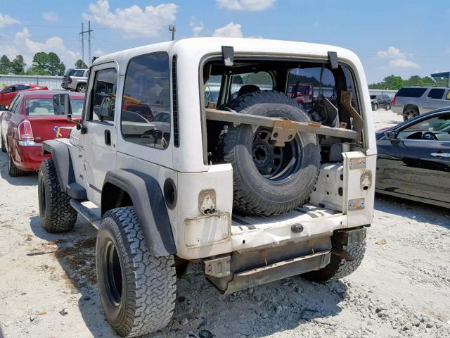
POLYGON ((345 261, 345 259, 331 254, 330 263, 320 270, 305 273, 302 277, 313 282, 326 282, 328 280, 338 280, 348 276, 361 265, 366 252, 366 240, 354 246, 342 246, 342 249, 349 252, 354 258, 353 261, 345 261))

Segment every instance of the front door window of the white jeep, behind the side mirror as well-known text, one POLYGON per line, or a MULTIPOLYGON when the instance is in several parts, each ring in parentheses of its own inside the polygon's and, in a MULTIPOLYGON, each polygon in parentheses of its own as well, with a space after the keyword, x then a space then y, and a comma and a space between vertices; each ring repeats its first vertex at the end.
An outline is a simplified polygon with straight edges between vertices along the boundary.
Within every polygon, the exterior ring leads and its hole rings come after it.
POLYGON ((98 70, 95 76, 87 120, 112 123, 115 111, 117 70, 115 68, 98 70))

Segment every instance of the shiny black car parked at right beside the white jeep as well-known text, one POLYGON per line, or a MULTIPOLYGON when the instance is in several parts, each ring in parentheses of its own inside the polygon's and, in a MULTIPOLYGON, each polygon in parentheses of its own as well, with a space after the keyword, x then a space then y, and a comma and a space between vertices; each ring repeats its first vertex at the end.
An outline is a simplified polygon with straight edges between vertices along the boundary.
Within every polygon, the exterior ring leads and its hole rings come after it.
POLYGON ((450 208, 450 108, 376 132, 375 191, 450 208))

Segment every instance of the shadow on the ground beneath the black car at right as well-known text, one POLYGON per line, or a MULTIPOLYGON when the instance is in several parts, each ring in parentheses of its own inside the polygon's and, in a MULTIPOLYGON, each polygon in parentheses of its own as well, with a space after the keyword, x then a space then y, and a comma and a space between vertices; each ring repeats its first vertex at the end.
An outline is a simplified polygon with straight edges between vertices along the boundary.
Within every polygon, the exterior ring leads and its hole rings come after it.
POLYGON ((449 209, 440 206, 377 193, 375 194, 375 209, 401 215, 420 223, 433 223, 450 230, 449 209), (447 221, 442 222, 442 219, 447 219, 447 221))

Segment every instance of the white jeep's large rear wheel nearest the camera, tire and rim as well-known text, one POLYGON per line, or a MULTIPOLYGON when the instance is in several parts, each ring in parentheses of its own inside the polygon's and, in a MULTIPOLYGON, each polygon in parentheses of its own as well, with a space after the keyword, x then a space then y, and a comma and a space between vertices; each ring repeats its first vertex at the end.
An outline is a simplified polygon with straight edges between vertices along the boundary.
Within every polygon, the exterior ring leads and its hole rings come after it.
POLYGON ((167 326, 176 299, 174 256, 148 252, 134 207, 103 215, 96 270, 106 319, 118 334, 137 337, 167 326))

